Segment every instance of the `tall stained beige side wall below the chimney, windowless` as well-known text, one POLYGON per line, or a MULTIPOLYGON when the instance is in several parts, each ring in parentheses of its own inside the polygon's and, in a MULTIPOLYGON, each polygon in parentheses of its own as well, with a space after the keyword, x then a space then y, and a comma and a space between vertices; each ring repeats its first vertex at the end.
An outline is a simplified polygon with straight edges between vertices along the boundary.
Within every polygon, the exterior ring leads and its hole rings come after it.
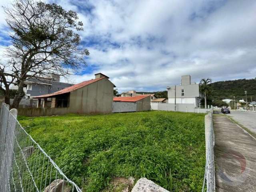
POLYGON ((70 113, 106 114, 112 112, 114 85, 104 78, 70 92, 70 113))

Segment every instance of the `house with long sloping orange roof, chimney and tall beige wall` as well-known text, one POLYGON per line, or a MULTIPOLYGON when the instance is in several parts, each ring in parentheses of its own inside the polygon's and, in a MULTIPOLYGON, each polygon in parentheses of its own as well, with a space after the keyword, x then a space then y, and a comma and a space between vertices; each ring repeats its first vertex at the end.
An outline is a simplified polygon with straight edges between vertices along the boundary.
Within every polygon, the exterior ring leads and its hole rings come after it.
POLYGON ((51 108, 63 109, 67 113, 106 114, 112 112, 114 87, 108 76, 97 73, 95 79, 34 98, 38 99, 38 108, 46 107, 44 103, 51 99, 51 108))

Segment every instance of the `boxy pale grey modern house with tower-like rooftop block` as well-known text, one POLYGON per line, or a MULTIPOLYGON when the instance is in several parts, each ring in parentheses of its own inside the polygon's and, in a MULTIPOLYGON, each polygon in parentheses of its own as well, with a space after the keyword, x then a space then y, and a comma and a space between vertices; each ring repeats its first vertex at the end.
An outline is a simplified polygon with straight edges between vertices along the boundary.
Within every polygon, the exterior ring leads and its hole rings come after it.
POLYGON ((181 84, 176 86, 168 86, 168 103, 174 104, 194 104, 198 107, 200 99, 203 97, 199 92, 199 84, 191 83, 191 76, 181 76, 181 84), (176 95, 176 96, 175 96, 176 95))

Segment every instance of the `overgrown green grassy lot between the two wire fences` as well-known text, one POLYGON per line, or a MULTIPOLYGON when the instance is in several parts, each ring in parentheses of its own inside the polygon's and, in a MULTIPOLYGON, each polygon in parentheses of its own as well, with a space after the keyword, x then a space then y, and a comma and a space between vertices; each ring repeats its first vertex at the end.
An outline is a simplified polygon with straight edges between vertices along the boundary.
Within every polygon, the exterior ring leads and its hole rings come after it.
POLYGON ((201 190, 204 114, 153 111, 19 120, 84 191, 118 191, 114 180, 130 176, 146 177, 170 191, 201 190))

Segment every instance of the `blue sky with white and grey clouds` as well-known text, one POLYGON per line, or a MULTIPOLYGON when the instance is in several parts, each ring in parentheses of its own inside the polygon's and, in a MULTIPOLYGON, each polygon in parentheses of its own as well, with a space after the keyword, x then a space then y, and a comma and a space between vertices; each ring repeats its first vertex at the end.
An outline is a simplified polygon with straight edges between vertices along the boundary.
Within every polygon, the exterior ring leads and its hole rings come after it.
MULTIPOLYGON (((6 5, 11 0, 1 1, 6 5)), ((255 0, 48 0, 78 13, 90 56, 73 83, 110 77, 119 92, 202 78, 256 77, 255 0)), ((0 54, 10 45, 0 9, 0 54)))

